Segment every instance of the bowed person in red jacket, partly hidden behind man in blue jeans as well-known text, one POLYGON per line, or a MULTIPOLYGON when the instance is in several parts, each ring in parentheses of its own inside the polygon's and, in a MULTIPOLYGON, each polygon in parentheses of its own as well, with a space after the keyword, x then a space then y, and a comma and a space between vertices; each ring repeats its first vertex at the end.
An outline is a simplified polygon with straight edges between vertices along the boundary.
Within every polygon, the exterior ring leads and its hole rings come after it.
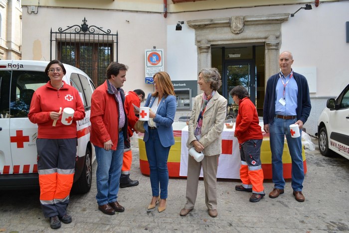
MULTIPOLYGON (((128 119, 127 133, 129 137, 133 135, 133 127, 138 120, 138 116, 135 115, 134 105, 138 108, 144 101, 145 93, 141 89, 136 89, 133 92, 129 91, 125 93, 125 112, 128 119)), ((139 184, 138 180, 130 179, 130 170, 132 164, 132 150, 131 147, 124 149, 123 164, 120 176, 120 188, 127 188, 132 186, 137 186, 139 184)))

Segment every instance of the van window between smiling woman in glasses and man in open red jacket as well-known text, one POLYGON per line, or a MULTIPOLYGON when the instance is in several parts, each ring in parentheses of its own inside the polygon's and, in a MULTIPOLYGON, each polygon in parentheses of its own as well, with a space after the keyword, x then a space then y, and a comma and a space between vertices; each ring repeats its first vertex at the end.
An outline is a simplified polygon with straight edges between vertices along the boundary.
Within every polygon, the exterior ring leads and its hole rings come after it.
POLYGON ((75 87, 82 95, 84 106, 86 110, 91 109, 91 96, 92 91, 89 86, 89 78, 81 75, 72 73, 70 75, 70 83, 75 87))

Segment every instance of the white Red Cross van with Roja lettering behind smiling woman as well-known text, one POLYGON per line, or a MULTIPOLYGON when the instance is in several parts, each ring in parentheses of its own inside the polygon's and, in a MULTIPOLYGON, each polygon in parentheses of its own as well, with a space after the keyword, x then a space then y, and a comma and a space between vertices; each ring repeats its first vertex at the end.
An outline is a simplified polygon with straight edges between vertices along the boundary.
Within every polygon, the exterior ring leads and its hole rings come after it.
MULTIPOLYGON (((27 115, 34 91, 49 81, 49 62, 0 60, 0 190, 38 187, 37 125, 27 115)), ((78 147, 73 191, 91 188, 94 147, 90 142, 91 79, 76 67, 64 64, 63 80, 80 93, 86 116, 77 122, 78 147)))

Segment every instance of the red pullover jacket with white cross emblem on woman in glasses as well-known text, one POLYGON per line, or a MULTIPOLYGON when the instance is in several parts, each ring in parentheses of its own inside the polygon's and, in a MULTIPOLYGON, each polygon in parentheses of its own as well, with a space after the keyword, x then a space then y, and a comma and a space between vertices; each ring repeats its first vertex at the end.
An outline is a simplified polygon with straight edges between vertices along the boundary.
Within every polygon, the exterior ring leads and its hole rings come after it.
POLYGON ((63 81, 63 87, 59 90, 51 86, 48 81, 44 86, 39 87, 33 94, 30 103, 28 118, 31 122, 37 123, 37 138, 62 139, 75 138, 76 120, 85 117, 84 105, 78 90, 63 81), (62 124, 61 117, 52 126, 53 119, 50 112, 59 112, 59 108, 72 108, 75 110, 73 122, 70 125, 62 124))

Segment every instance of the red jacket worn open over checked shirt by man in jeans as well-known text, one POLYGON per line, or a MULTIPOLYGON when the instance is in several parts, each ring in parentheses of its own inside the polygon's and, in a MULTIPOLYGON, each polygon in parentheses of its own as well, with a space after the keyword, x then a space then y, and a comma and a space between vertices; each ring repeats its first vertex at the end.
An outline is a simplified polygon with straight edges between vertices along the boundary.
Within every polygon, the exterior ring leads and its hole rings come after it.
MULTIPOLYGON (((120 89, 121 99, 125 101, 124 91, 120 89)), ((119 140, 119 104, 106 80, 92 94, 91 98, 91 135, 90 141, 104 147, 104 142, 112 140, 112 150, 116 150, 119 140)), ((123 127, 125 142, 127 140, 127 117, 123 127)))

